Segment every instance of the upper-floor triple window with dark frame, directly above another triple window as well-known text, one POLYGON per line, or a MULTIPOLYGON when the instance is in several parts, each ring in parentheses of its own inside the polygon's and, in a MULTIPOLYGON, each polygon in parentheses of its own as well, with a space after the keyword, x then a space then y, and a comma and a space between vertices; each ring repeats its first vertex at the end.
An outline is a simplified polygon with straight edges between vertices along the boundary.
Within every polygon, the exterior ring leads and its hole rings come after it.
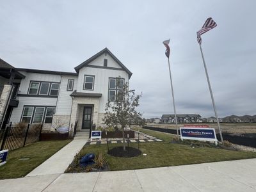
POLYGON ((29 95, 51 95, 57 96, 60 89, 60 83, 31 81, 29 84, 29 95))

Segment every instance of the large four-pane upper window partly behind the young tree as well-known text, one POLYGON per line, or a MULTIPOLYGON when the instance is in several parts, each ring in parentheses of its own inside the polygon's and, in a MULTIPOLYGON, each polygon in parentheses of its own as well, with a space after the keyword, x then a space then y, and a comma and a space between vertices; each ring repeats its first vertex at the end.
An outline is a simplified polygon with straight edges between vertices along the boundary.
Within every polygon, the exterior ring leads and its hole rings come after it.
POLYGON ((109 78, 108 86, 108 100, 116 101, 117 99, 123 100, 122 89, 124 86, 124 79, 109 78))

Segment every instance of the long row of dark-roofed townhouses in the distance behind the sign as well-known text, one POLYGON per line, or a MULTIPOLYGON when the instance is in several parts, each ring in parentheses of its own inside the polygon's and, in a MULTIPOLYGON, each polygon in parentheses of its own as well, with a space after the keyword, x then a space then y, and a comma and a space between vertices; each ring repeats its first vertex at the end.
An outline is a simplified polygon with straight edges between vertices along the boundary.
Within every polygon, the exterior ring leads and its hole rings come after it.
MULTIPOLYGON (((178 123, 194 123, 202 122, 202 116, 198 114, 177 114, 177 122, 178 123)), ((162 115, 161 123, 164 124, 172 124, 175 123, 175 115, 162 115)))

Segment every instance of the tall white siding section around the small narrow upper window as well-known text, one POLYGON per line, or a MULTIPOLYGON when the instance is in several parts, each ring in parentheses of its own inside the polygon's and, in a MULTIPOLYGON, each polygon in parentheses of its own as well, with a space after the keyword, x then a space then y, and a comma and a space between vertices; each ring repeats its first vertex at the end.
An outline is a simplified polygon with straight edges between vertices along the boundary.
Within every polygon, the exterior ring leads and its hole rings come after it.
POLYGON ((70 94, 76 90, 77 76, 62 76, 60 84, 60 92, 56 108, 56 115, 70 115, 72 98, 70 94), (74 79, 74 87, 72 91, 67 91, 68 79, 74 79))

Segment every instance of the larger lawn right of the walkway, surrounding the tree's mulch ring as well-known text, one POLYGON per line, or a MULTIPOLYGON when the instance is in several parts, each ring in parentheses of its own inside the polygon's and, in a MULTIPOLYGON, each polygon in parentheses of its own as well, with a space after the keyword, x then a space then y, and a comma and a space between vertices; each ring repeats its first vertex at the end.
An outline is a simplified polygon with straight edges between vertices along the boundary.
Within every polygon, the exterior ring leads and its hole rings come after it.
MULTIPOLYGON (((163 140, 163 142, 140 143, 142 154, 147 154, 147 156, 141 154, 138 157, 131 158, 112 157, 107 154, 107 145, 86 145, 77 154, 77 157, 81 157, 87 153, 102 153, 106 157, 109 170, 134 170, 256 157, 255 152, 227 150, 216 147, 191 148, 190 145, 170 143, 170 140, 175 137, 174 135, 146 129, 140 130, 163 140)), ((109 148, 118 145, 122 144, 110 144, 109 148)), ((137 148, 138 143, 130 143, 129 146, 137 148)), ((79 168, 77 160, 74 159, 74 163, 70 165, 67 172, 83 172, 83 169, 79 168)))

